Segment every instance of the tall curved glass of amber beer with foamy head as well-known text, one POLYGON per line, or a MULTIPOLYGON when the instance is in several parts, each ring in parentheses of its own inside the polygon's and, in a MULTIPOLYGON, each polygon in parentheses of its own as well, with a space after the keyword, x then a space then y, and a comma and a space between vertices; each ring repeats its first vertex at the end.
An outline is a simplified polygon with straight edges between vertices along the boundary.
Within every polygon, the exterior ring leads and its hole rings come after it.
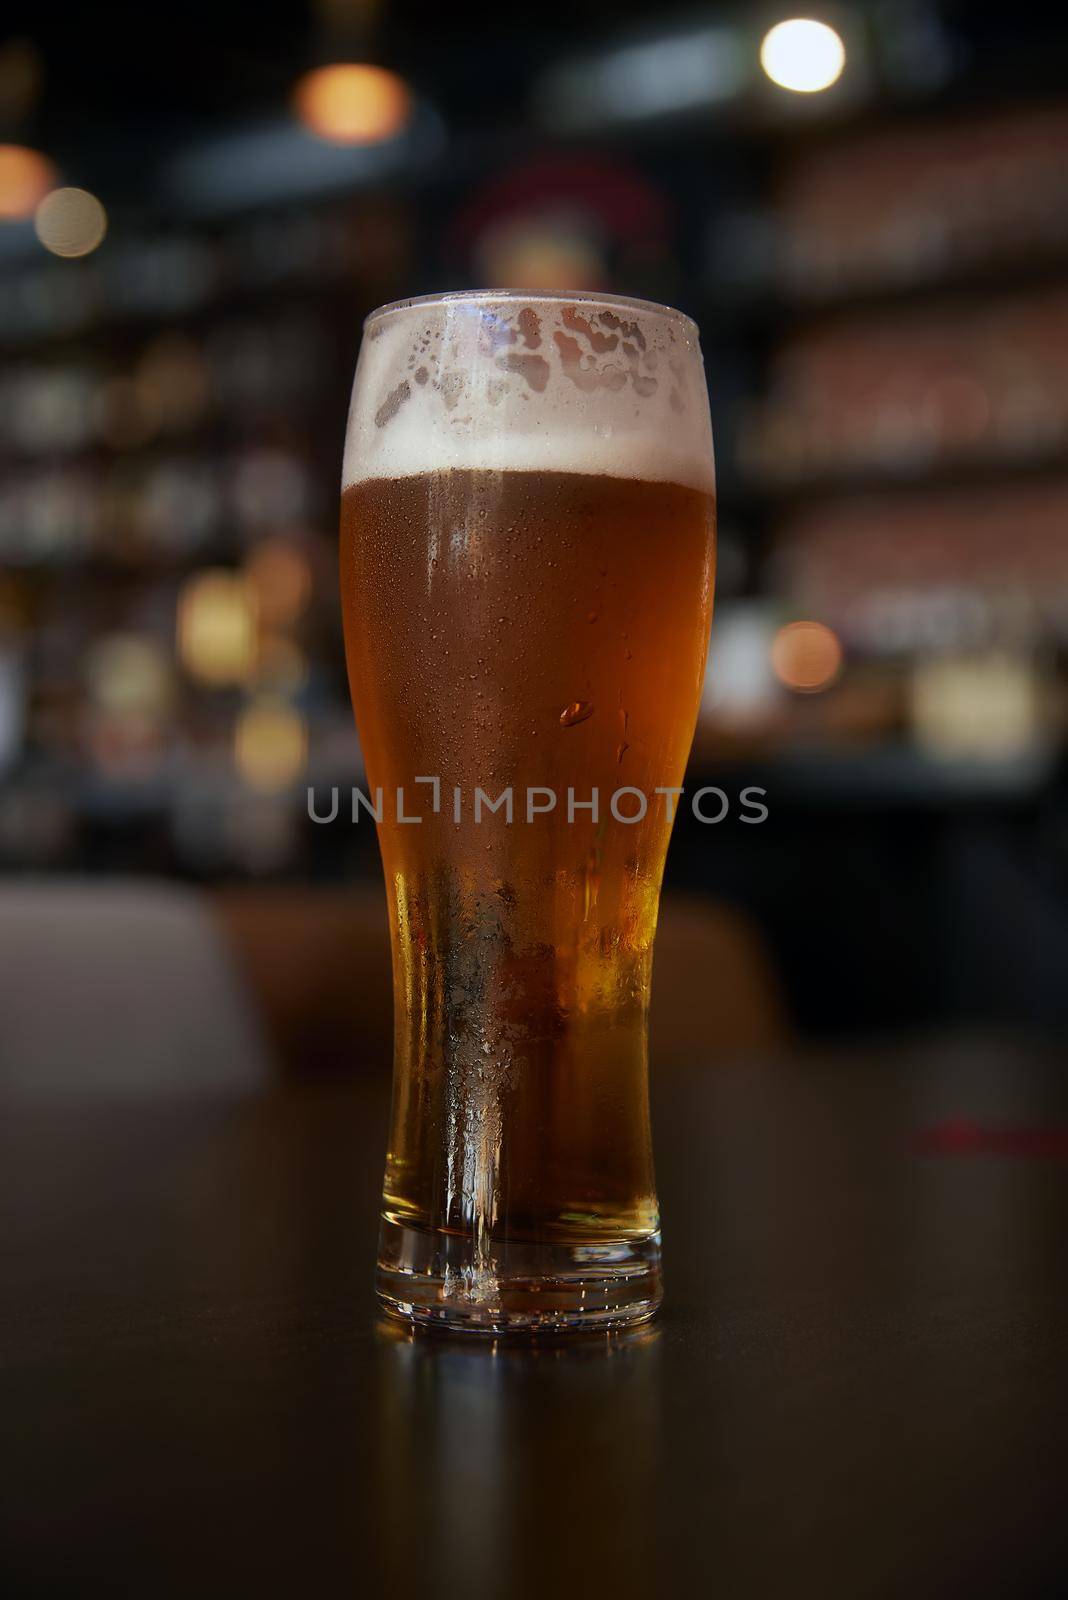
POLYGON ((393 949, 377 1293, 409 1322, 660 1302, 646 1022, 713 574, 687 317, 504 290, 368 318, 341 594, 393 949))

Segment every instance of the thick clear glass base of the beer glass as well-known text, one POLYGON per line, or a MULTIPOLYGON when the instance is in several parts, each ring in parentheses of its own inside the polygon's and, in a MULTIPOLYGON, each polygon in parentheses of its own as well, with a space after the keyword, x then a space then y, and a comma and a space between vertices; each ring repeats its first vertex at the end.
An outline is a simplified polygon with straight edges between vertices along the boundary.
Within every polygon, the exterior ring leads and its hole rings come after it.
POLYGON ((632 1328, 662 1299, 660 1235, 596 1243, 492 1240, 382 1219, 377 1296, 409 1325, 491 1336, 632 1328))

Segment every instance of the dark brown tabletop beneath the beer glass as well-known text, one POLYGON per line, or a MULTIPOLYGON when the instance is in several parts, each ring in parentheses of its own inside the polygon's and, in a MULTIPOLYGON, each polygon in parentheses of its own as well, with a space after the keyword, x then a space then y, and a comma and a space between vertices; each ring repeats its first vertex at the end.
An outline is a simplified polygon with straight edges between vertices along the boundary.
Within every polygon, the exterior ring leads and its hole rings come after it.
POLYGON ((654 1102, 664 1314, 534 1347, 379 1323, 379 1082, 6 1107, 5 1592, 1063 1592, 1065 1061, 654 1102))

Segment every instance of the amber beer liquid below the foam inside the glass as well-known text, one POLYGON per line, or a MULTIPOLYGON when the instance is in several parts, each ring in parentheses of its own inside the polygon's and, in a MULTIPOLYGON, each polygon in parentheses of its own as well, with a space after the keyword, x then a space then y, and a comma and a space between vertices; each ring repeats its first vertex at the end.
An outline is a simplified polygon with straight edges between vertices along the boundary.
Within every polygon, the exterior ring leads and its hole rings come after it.
POLYGON ((694 731, 713 528, 711 493, 574 472, 344 494, 349 675, 393 928, 384 1250, 390 1227, 468 1240, 475 1301, 502 1248, 596 1259, 657 1235, 646 1014, 673 811, 657 789, 683 782, 694 731), (420 822, 398 819, 398 789, 420 822), (512 821, 484 803, 476 819, 476 790, 505 789, 512 821), (528 821, 528 790, 553 808, 528 821), (619 821, 614 795, 624 818, 644 797, 644 818, 619 821))

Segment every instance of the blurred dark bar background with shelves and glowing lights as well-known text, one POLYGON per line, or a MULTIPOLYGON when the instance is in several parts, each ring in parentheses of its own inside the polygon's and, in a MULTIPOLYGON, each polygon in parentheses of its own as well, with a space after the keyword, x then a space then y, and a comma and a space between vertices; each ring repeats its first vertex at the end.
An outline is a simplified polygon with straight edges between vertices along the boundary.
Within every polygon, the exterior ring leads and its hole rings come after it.
POLYGON ((6 874, 182 880, 235 922, 251 885, 377 894, 366 821, 307 802, 361 776, 361 318, 612 290, 697 318, 718 446, 691 784, 734 803, 679 813, 668 886, 755 930, 801 1034, 1068 1021, 1062 24, 788 16, 6 6, 6 874))

